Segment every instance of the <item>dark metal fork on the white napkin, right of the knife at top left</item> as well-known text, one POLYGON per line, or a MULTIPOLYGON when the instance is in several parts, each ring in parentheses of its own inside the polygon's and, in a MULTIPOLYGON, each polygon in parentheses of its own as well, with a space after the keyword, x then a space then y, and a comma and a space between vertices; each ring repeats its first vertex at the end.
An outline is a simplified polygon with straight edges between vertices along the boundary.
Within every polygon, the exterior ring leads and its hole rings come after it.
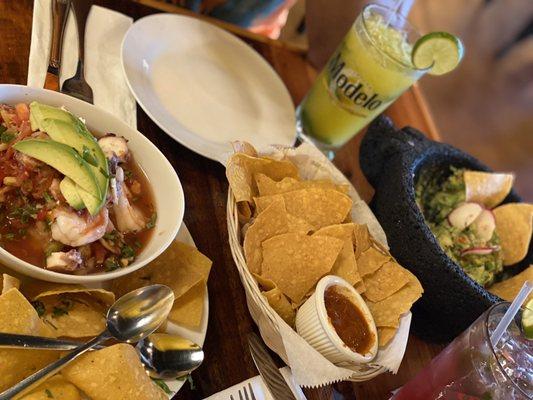
POLYGON ((72 78, 63 82, 61 92, 76 97, 87 103, 94 103, 93 90, 85 80, 85 25, 91 10, 91 0, 72 0, 72 11, 78 27, 78 66, 72 78))

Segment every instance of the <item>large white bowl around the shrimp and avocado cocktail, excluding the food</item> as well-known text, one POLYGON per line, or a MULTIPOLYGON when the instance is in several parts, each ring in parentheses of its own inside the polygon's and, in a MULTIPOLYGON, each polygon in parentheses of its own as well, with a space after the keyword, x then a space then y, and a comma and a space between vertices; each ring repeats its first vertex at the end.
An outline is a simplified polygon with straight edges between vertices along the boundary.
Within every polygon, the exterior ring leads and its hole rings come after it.
POLYGON ((30 103, 34 100, 56 107, 66 107, 73 114, 83 118, 92 131, 101 134, 112 132, 128 139, 128 147, 151 184, 158 218, 150 241, 135 261, 126 268, 91 275, 63 274, 27 263, 1 247, 0 262, 21 274, 37 279, 62 283, 91 283, 129 274, 156 258, 174 240, 185 211, 183 189, 172 165, 139 131, 92 104, 50 90, 21 85, 0 85, 0 103, 30 103))

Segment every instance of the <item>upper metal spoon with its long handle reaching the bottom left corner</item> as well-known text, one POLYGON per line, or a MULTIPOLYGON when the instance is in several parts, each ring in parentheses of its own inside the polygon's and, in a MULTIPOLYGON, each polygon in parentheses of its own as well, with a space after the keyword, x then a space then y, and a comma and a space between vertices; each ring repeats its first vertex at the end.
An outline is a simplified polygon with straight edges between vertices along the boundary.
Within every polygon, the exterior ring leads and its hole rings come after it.
POLYGON ((164 285, 146 286, 129 292, 118 299, 107 312, 107 327, 104 332, 2 392, 0 400, 9 400, 31 390, 87 350, 108 339, 114 338, 127 343, 144 339, 165 321, 173 303, 174 293, 164 285))

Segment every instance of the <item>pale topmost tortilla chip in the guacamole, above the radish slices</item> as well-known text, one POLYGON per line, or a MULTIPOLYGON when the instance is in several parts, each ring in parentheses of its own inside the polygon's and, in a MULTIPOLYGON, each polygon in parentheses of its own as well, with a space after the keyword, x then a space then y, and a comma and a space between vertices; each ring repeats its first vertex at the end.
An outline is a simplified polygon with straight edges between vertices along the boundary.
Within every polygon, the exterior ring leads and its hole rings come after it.
POLYGON ((513 174, 465 171, 466 201, 484 204, 487 208, 496 207, 507 197, 513 187, 513 174))

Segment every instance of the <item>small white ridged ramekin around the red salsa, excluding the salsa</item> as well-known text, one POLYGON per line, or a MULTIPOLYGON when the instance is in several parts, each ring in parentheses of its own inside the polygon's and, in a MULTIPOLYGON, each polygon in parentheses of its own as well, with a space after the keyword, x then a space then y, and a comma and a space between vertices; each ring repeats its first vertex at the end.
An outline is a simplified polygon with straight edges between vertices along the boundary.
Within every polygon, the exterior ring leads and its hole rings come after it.
POLYGON ((353 286, 334 275, 322 278, 316 285, 315 293, 300 307, 296 314, 296 331, 320 354, 337 365, 368 363, 374 359, 378 351, 376 325, 365 301, 353 286), (344 344, 329 321, 324 304, 324 292, 331 286, 346 288, 350 300, 363 313, 370 332, 374 335, 372 347, 366 354, 356 353, 344 344))

